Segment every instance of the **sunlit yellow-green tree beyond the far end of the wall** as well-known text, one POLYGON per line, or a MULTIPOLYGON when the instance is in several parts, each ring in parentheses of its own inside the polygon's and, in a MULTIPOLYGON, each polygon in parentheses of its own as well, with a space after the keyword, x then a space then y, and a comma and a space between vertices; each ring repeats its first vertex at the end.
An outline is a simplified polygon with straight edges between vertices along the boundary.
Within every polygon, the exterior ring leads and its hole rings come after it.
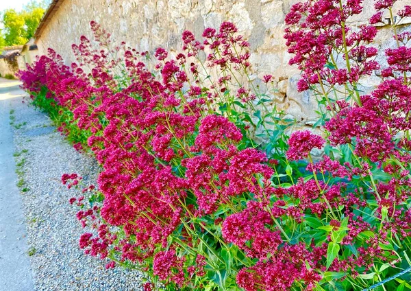
POLYGON ((49 0, 30 1, 21 12, 5 10, 1 16, 3 32, 0 32, 0 47, 4 45, 24 45, 34 36, 38 23, 45 13, 49 0))

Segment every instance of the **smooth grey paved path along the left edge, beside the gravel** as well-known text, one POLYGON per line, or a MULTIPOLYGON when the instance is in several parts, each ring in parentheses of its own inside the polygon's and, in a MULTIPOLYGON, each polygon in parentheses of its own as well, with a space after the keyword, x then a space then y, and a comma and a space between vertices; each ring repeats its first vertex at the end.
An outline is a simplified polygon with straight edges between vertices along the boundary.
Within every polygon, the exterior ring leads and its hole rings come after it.
POLYGON ((0 78, 0 290, 8 291, 34 290, 10 125, 10 113, 25 95, 19 85, 0 78))

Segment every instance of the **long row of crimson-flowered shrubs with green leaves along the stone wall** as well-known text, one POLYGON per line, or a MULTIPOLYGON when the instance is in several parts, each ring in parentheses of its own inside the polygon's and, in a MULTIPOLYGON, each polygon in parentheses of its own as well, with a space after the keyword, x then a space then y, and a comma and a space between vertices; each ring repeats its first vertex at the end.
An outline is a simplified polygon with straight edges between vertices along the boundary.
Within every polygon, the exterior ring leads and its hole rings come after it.
MULTIPOLYGON (((184 32, 181 52, 159 48, 153 61, 112 47, 92 22, 99 49, 82 36, 71 68, 50 50, 21 72, 34 105, 101 164, 97 187, 70 200, 88 229, 80 248, 107 268, 144 270, 146 290, 157 280, 167 290, 362 290, 408 267, 411 89, 400 43, 410 37, 384 3, 398 46, 367 94, 376 30, 346 24, 361 1, 297 3, 286 17, 290 63, 299 90, 319 99, 323 136, 286 136, 272 76, 265 88, 251 81, 249 45, 232 23, 202 42, 184 32)), ((62 182, 84 184, 77 174, 62 182)), ((384 288, 411 288, 408 277, 384 288)))

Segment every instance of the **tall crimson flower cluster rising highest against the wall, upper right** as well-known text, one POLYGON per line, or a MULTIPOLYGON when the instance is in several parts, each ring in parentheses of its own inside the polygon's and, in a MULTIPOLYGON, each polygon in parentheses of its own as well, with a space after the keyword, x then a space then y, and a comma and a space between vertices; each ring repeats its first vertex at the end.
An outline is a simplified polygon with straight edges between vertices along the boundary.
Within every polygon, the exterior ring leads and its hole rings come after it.
POLYGON ((303 72, 299 91, 314 84, 325 86, 356 83, 363 75, 379 69, 373 58, 377 49, 370 47, 377 34, 372 25, 348 27, 351 16, 362 12, 362 0, 320 0, 298 2, 286 16, 285 38, 288 52, 295 56, 290 65, 298 65, 303 72), (352 49, 345 50, 344 47, 352 49), (330 66, 333 54, 341 54, 349 67, 330 66), (321 79, 323 81, 321 81, 321 79))

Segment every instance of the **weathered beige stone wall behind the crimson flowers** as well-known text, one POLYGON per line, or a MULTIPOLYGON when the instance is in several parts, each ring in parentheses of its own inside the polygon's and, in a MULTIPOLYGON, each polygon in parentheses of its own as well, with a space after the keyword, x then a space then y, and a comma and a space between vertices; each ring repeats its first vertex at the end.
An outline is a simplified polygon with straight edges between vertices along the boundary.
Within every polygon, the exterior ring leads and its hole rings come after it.
MULTIPOLYGON (((89 23, 99 22, 118 43, 125 41, 140 51, 165 47, 169 51, 182 46, 181 34, 191 30, 199 38, 206 27, 217 28, 223 21, 234 22, 251 44, 252 69, 257 78, 268 73, 276 78, 278 102, 298 121, 310 124, 316 118, 316 102, 309 93, 297 93, 299 71, 288 65, 284 17, 297 0, 60 0, 63 1, 51 21, 36 40, 40 53, 48 47, 66 60, 74 60, 71 44, 82 34, 90 36, 89 23)), ((401 0, 398 7, 409 3, 401 0)), ((353 21, 361 24, 371 16, 373 0, 364 1, 362 15, 353 21)), ((410 21, 408 21, 410 23, 410 21)), ((410 26, 407 26, 409 29, 410 26)), ((386 28, 381 27, 381 30, 386 28)), ((381 45, 389 43, 388 34, 380 34, 381 45)), ((373 80, 366 86, 373 86, 373 80)))

